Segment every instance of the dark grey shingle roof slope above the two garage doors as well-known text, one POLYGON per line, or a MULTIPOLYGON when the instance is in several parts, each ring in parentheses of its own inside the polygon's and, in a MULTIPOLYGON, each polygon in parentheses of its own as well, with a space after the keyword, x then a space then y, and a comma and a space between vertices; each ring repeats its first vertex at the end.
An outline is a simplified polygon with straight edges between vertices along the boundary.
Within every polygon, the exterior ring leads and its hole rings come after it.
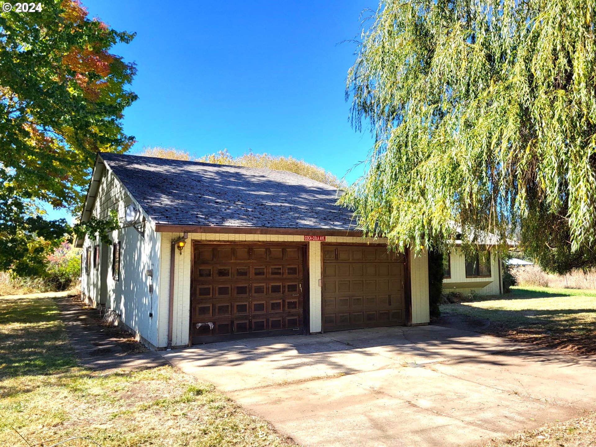
POLYGON ((156 224, 353 230, 337 189, 272 169, 101 153, 156 224))

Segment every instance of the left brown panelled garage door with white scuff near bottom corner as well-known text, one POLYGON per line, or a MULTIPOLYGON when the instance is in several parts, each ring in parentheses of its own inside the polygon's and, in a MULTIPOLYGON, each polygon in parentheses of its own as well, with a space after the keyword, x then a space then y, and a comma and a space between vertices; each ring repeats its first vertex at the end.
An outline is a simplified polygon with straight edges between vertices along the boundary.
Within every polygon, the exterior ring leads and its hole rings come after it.
POLYGON ((193 343, 303 330, 303 247, 193 245, 193 343))

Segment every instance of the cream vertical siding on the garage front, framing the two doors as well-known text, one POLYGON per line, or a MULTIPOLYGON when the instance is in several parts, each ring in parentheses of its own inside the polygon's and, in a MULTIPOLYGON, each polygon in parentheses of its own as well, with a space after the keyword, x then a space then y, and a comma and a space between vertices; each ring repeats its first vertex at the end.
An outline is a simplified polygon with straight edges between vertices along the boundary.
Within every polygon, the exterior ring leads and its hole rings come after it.
MULTIPOLYGON (((167 345, 167 306, 169 296, 170 247, 171 241, 181 237, 182 233, 162 233, 160 285, 162 300, 160 302, 159 345, 167 345), (162 318, 165 318, 164 320, 162 318)), ((188 344, 188 330, 190 327, 190 280, 191 280, 191 247, 192 241, 230 241, 230 242, 279 242, 304 243, 301 235, 272 235, 272 234, 188 234, 187 244, 179 254, 176 250, 176 265, 174 273, 174 319, 172 328, 172 346, 188 344)), ((360 237, 327 236, 325 243, 386 243, 386 240, 365 240, 360 237)), ((412 323, 423 324, 430 321, 429 316, 429 275, 426 253, 412 257, 411 285, 412 285, 412 323)), ((321 242, 308 243, 309 266, 309 295, 310 295, 310 331, 321 331, 321 242)), ((306 284, 305 284, 306 287, 306 284)))

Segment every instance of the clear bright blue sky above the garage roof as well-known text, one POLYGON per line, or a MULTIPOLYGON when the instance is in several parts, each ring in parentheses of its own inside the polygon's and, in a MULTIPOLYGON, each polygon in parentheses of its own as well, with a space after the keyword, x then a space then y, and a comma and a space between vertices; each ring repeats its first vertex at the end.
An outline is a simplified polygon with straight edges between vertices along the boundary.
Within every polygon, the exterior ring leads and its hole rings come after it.
MULTIPOLYGON (((371 0, 82 0, 91 17, 136 32, 114 49, 134 61, 139 99, 124 129, 144 146, 201 156, 293 156, 342 177, 373 141, 348 120, 344 81, 371 0)), ((347 175, 351 182, 358 167, 347 175)), ((64 212, 50 212, 49 218, 64 212)))

